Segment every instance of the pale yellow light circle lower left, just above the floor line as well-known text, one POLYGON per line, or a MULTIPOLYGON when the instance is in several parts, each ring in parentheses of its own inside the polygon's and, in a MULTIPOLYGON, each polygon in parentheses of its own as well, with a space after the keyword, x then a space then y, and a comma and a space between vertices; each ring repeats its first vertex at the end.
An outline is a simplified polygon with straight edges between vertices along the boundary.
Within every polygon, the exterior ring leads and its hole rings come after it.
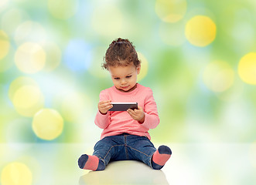
POLYGON ((40 109, 32 120, 32 130, 43 140, 54 140, 63 132, 63 117, 55 109, 40 109))

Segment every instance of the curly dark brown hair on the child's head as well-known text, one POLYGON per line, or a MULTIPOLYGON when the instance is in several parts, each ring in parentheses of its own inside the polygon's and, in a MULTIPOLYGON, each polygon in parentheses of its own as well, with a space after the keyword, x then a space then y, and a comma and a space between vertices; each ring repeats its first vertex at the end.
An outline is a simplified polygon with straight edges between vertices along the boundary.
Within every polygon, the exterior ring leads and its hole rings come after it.
POLYGON ((135 46, 128 39, 118 38, 109 45, 102 67, 108 69, 109 66, 129 66, 131 63, 135 67, 141 64, 135 46))

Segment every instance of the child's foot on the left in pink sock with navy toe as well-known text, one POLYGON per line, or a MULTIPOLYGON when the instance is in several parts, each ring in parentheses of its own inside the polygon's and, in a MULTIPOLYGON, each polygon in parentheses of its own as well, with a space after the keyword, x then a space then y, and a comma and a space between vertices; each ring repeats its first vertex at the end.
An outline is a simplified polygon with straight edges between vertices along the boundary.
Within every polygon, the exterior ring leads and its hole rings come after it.
POLYGON ((98 171, 105 169, 104 163, 97 156, 89 156, 87 154, 80 156, 78 166, 84 170, 98 171))

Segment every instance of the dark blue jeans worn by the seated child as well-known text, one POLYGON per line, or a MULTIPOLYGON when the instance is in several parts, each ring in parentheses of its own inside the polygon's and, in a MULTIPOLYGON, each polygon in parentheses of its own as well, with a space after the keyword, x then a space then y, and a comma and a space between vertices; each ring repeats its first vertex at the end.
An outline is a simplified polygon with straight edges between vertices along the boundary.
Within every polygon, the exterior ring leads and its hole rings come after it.
POLYGON ((152 155, 155 146, 145 136, 123 133, 118 136, 107 136, 94 146, 94 156, 105 165, 112 160, 139 160, 152 167, 152 155))

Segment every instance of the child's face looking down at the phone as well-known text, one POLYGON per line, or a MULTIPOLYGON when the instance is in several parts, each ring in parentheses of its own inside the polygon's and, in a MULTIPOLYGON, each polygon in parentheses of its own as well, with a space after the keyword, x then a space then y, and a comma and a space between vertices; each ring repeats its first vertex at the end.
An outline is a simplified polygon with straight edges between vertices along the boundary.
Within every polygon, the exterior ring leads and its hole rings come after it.
POLYGON ((141 66, 136 68, 134 65, 108 67, 114 86, 122 92, 129 92, 135 88, 140 69, 141 66))

